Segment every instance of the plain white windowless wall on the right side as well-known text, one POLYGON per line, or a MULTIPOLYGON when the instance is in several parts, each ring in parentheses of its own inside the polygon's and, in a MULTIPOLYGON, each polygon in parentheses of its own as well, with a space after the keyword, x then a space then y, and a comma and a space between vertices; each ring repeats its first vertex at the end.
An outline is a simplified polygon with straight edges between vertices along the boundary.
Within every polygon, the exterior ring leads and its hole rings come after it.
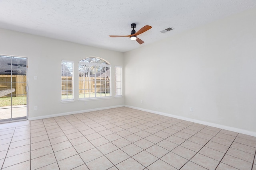
POLYGON ((256 132, 255 18, 254 8, 126 52, 125 104, 256 132))

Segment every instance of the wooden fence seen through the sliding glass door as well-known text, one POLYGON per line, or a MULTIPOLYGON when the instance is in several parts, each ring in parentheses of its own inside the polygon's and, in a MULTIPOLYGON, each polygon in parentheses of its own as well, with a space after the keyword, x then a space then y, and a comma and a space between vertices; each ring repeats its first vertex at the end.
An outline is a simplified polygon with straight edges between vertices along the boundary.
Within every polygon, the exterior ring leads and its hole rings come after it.
MULTIPOLYGON (((0 90, 15 88, 13 97, 26 96, 26 75, 3 75, 0 74, 0 90)), ((4 96, 7 97, 7 96, 4 96)))

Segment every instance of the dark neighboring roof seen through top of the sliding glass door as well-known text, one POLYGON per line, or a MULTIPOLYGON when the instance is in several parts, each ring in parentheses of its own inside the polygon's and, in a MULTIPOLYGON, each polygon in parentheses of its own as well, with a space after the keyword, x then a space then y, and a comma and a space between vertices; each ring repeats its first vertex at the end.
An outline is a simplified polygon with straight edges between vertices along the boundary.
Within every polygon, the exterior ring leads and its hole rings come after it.
POLYGON ((0 74, 26 75, 27 60, 20 57, 8 57, 0 55, 0 74))

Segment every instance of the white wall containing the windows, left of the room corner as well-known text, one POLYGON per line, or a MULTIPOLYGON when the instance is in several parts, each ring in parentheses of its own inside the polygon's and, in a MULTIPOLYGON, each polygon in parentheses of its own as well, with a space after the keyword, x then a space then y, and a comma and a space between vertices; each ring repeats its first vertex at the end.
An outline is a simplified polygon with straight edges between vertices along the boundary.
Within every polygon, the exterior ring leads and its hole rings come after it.
POLYGON ((123 53, 88 47, 6 29, 0 29, 0 54, 28 57, 29 118, 79 112, 124 104, 124 98, 78 101, 78 61, 85 57, 100 57, 112 65, 112 96, 114 96, 114 66, 123 66, 123 53), (74 61, 75 102, 62 103, 61 60, 74 61), (34 76, 38 80, 34 80, 34 76), (34 110, 38 106, 38 110, 34 110))

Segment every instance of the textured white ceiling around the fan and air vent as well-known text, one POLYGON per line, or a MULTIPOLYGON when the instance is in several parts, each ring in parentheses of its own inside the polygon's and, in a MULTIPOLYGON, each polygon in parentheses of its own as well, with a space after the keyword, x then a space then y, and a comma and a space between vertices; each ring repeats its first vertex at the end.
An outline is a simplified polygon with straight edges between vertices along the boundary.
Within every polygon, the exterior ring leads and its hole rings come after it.
POLYGON ((256 0, 0 0, 0 27, 125 52, 253 7, 256 0), (131 23, 152 26, 138 36, 144 44, 108 36, 129 35, 131 23))

